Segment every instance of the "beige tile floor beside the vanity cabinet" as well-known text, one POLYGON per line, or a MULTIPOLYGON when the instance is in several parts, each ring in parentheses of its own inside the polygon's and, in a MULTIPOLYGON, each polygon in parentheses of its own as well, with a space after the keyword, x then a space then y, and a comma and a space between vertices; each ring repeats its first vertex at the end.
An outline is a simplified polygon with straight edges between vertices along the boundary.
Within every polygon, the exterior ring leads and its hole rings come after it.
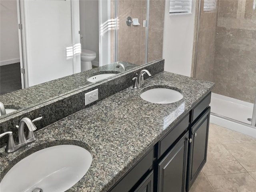
POLYGON ((256 139, 210 124, 207 161, 189 192, 256 192, 256 139))

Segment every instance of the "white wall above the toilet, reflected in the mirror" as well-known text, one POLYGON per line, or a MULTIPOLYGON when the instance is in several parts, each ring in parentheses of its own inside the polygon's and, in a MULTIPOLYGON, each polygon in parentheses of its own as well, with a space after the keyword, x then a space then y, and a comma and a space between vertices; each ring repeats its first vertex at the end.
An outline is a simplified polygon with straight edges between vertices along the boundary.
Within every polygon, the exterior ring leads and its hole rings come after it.
POLYGON ((80 0, 80 34, 82 49, 96 52, 95 61, 99 61, 99 1, 80 0))

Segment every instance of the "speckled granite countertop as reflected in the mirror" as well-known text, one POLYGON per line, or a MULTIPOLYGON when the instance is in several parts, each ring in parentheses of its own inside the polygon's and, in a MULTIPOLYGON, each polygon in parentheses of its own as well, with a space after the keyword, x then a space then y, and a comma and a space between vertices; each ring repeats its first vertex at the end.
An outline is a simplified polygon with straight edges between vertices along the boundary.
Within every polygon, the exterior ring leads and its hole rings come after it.
MULTIPOLYGON (((93 68, 85 72, 31 86, 24 90, 17 90, 8 94, 0 95, 0 101, 4 104, 5 108, 12 108, 19 111, 26 110, 30 107, 42 104, 43 102, 47 102, 54 98, 94 84, 87 81, 87 79, 96 74, 108 72, 118 74, 124 72, 123 68, 116 68, 118 63, 123 64, 126 67, 126 70, 138 67, 136 64, 118 61, 98 68, 93 68)), ((15 112, 12 112, 12 114, 14 113, 15 112)), ((9 115, 10 114, 4 116, 9 115)), ((4 116, 0 116, 0 118, 3 118, 4 116)))

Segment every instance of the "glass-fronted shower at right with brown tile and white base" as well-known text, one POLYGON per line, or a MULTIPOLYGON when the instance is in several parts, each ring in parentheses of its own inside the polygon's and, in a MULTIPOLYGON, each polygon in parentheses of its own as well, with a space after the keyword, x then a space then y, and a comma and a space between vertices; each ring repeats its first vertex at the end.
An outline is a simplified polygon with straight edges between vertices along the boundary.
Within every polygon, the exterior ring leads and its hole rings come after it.
POLYGON ((255 0, 220 0, 213 10, 200 2, 195 78, 215 82, 212 119, 255 129, 255 0))

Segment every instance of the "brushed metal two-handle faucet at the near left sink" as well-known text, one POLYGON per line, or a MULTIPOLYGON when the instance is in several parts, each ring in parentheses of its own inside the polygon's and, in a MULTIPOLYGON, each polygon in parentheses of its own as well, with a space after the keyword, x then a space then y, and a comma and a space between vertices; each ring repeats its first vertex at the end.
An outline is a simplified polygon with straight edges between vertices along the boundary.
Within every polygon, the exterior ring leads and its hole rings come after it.
POLYGON ((0 135, 0 137, 4 136, 6 134, 9 135, 5 151, 7 153, 11 153, 11 152, 14 152, 14 151, 22 148, 22 147, 27 146, 31 142, 34 142, 36 140, 36 136, 34 135, 34 130, 36 130, 36 126, 35 126, 34 122, 39 121, 41 119, 42 119, 42 117, 38 117, 34 120, 30 120, 30 118, 25 117, 25 118, 22 118, 22 120, 20 120, 19 125, 16 125, 16 128, 18 128, 18 144, 15 144, 11 131, 2 133, 0 135), (28 127, 28 137, 27 138, 24 134, 24 125, 25 124, 28 127))

